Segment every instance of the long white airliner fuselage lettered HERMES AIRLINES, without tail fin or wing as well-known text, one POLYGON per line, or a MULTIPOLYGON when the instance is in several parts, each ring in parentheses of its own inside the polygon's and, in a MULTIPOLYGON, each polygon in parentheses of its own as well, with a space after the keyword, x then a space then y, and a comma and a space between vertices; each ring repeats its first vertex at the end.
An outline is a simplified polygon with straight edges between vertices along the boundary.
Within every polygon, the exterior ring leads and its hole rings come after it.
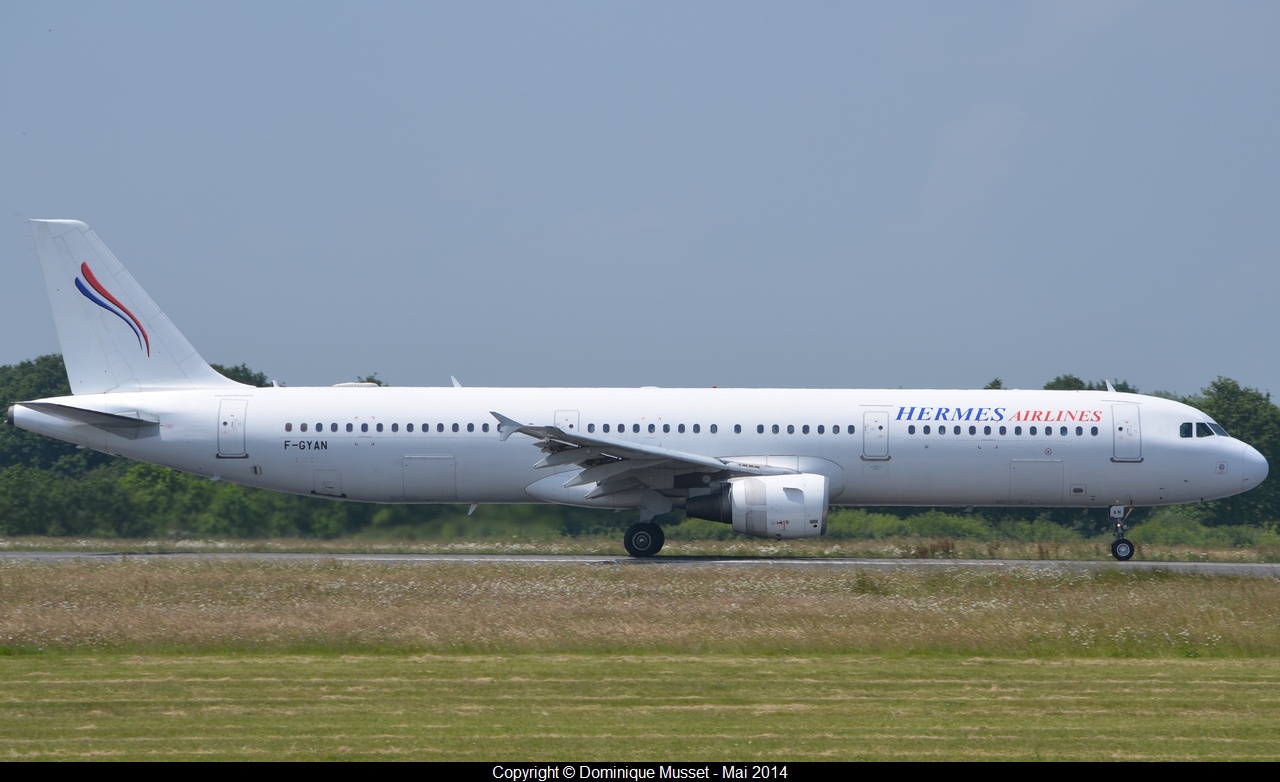
MULTIPOLYGON (((493 412, 820 474, 836 506, 1174 504, 1238 494, 1267 472, 1252 447, 1197 429, 1210 421, 1199 411, 1112 392, 244 387, 44 402, 157 426, 125 436, 22 404, 14 422, 197 475, 379 503, 637 507, 567 489, 581 467, 535 467, 535 439, 502 439, 493 412)), ((677 507, 700 491, 678 461, 654 461, 644 479, 677 507)))

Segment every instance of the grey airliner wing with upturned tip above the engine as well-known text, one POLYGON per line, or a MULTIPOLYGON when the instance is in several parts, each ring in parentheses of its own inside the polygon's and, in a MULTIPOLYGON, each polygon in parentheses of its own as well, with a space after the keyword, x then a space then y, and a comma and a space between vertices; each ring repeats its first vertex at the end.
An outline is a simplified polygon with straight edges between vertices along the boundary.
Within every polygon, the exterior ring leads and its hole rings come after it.
POLYGON ((686 451, 673 451, 659 445, 645 445, 627 440, 603 438, 595 434, 564 431, 558 426, 538 426, 521 424, 499 412, 490 411, 498 419, 498 433, 506 440, 513 434, 524 434, 536 440, 535 445, 545 453, 535 467, 559 467, 576 465, 582 470, 566 481, 564 486, 585 486, 596 484, 586 497, 594 499, 626 491, 639 486, 654 489, 669 488, 657 476, 669 477, 675 474, 703 474, 717 477, 739 477, 744 475, 790 475, 794 470, 751 465, 723 459, 686 451))

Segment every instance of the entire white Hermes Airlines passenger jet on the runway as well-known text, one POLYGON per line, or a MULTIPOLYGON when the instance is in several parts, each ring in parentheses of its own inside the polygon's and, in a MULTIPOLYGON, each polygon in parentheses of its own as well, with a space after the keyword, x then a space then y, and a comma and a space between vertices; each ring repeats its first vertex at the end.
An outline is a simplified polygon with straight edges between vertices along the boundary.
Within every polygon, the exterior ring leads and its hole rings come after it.
POLYGON ((8 422, 215 480, 371 503, 561 503, 756 538, 815 538, 831 506, 1108 508, 1231 497, 1267 461, 1203 412, 1106 390, 255 388, 216 372, 97 235, 31 220, 72 395, 8 422))

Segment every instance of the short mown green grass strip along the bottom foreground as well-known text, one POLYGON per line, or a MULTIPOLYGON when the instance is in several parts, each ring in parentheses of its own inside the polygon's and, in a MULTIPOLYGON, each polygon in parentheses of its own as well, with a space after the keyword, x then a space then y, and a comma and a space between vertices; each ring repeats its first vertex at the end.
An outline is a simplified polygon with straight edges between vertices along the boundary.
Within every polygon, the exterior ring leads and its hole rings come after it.
POLYGON ((1275 760, 1280 660, 26 655, 0 758, 1275 760))

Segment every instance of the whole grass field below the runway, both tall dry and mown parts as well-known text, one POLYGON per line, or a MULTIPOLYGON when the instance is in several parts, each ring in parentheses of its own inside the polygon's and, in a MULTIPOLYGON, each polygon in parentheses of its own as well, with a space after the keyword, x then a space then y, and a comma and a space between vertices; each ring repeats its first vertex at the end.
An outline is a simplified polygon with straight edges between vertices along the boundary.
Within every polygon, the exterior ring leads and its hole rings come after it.
POLYGON ((12 759, 1276 759, 1280 582, 0 564, 12 759))

